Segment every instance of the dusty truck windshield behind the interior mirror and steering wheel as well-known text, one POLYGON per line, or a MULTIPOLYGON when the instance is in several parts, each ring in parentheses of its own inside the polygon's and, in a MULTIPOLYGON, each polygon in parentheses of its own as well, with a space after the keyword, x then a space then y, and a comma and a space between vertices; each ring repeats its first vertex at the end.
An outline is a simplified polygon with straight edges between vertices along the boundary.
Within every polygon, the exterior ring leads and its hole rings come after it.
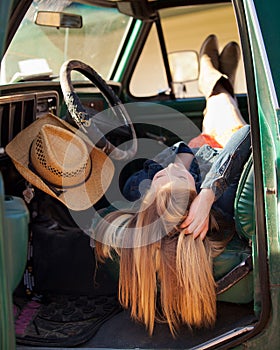
MULTIPOLYGON (((130 17, 115 9, 79 4, 69 0, 33 1, 3 61, 1 84, 30 79, 58 79, 62 63, 78 59, 110 79, 130 17), (38 11, 63 11, 82 17, 81 28, 35 24, 38 11)), ((73 80, 86 79, 73 74, 73 80)))

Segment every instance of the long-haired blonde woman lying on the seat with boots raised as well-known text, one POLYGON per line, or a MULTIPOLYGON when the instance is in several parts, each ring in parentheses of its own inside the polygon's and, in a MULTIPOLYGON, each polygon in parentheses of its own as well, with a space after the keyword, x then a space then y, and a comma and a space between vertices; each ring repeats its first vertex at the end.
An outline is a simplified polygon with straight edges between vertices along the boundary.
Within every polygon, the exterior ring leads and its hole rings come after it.
MULTIPOLYGON (((94 219, 97 257, 119 255, 120 302, 150 334, 158 319, 168 322, 173 335, 182 323, 215 323, 212 260, 228 242, 224 232, 233 221, 235 192, 251 146, 233 92, 239 58, 234 42, 219 54, 214 35, 200 50, 199 86, 207 99, 203 134, 221 148, 204 145, 195 151, 179 142, 127 181, 124 196, 136 201, 137 209, 111 207, 94 219), (146 191, 143 180, 151 180, 146 191)), ((234 225, 230 228, 234 232, 234 225)))

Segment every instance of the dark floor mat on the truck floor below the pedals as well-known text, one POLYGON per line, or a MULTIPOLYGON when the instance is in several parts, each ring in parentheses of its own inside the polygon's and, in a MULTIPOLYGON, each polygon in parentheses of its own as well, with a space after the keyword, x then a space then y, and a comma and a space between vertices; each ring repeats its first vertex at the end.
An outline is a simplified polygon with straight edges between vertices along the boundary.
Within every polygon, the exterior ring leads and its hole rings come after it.
POLYGON ((48 300, 15 300, 15 332, 18 344, 76 346, 121 311, 115 296, 50 297, 48 300))

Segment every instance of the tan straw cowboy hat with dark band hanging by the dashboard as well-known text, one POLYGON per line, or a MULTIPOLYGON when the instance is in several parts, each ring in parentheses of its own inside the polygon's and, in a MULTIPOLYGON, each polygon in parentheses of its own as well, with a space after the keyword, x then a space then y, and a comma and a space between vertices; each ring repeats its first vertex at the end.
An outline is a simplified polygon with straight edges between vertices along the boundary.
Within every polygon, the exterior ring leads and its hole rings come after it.
POLYGON ((109 187, 111 159, 79 130, 47 114, 6 147, 20 174, 72 210, 85 210, 109 187))

